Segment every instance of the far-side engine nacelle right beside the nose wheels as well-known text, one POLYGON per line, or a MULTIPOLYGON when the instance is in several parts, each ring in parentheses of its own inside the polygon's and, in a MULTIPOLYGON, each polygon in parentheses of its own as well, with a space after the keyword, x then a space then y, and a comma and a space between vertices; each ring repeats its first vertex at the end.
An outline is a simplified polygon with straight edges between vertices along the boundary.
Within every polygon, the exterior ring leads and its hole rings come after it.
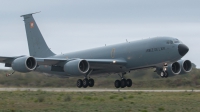
POLYGON ((169 76, 178 75, 181 73, 181 65, 179 62, 174 62, 167 67, 169 76))

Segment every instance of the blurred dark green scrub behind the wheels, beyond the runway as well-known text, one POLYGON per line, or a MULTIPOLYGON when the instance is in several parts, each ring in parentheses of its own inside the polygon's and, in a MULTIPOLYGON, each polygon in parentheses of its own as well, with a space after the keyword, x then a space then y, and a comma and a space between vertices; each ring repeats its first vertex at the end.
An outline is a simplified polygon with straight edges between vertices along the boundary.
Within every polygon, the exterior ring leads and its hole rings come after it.
MULTIPOLYGON (((0 71, 0 87, 76 87, 76 78, 59 78, 56 76, 46 76, 38 72, 19 73, 6 77, 6 73, 12 71, 0 71)), ((114 88, 114 81, 120 79, 117 74, 91 76, 95 80, 96 88, 114 88)), ((200 70, 193 69, 192 72, 175 77, 161 78, 154 72, 154 69, 132 71, 125 75, 133 80, 134 88, 200 88, 200 70)))

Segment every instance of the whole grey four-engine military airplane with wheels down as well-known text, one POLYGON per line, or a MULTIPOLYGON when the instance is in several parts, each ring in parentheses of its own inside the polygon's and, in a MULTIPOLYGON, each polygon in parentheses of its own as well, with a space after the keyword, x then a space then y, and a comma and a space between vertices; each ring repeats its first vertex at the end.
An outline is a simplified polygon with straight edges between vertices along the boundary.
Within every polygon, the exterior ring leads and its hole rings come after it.
MULTIPOLYGON (((55 54, 47 46, 33 14, 22 15, 30 56, 0 56, 5 67, 14 72, 38 71, 60 77, 84 77, 78 79, 77 87, 93 87, 91 77, 102 74, 117 74, 120 80, 116 88, 132 86, 126 73, 146 68, 155 68, 162 78, 188 73, 192 70, 190 60, 182 60, 189 48, 177 38, 154 37, 121 44, 103 46, 66 54, 55 54)), ((13 72, 13 73, 14 73, 13 72)), ((12 73, 12 74, 13 74, 12 73)), ((11 74, 8 74, 9 76, 11 74)))

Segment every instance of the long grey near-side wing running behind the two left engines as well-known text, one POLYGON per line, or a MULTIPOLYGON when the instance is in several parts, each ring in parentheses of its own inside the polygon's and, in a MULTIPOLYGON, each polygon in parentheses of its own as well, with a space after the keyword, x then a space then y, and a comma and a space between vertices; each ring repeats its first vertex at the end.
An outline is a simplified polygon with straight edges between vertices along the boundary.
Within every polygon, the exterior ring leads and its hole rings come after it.
MULTIPOLYGON (((24 55, 23 55, 24 56, 24 55)), ((11 67, 12 62, 16 58, 20 58, 23 56, 0 56, 0 63, 5 63, 5 67, 11 67)), ((35 58, 38 65, 48 65, 48 66, 64 66, 65 63, 76 59, 64 59, 64 58, 35 58)), ((124 66, 126 65, 126 60, 124 59, 84 59, 90 64, 91 69, 106 69, 110 67, 116 66, 124 66)))

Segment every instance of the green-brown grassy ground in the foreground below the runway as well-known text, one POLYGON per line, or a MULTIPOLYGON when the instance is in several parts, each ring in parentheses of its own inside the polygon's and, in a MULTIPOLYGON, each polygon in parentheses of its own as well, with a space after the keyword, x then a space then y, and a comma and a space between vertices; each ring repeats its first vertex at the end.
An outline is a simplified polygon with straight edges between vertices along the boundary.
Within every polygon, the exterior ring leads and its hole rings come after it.
POLYGON ((4 112, 199 112, 199 105, 197 91, 0 91, 4 112))

